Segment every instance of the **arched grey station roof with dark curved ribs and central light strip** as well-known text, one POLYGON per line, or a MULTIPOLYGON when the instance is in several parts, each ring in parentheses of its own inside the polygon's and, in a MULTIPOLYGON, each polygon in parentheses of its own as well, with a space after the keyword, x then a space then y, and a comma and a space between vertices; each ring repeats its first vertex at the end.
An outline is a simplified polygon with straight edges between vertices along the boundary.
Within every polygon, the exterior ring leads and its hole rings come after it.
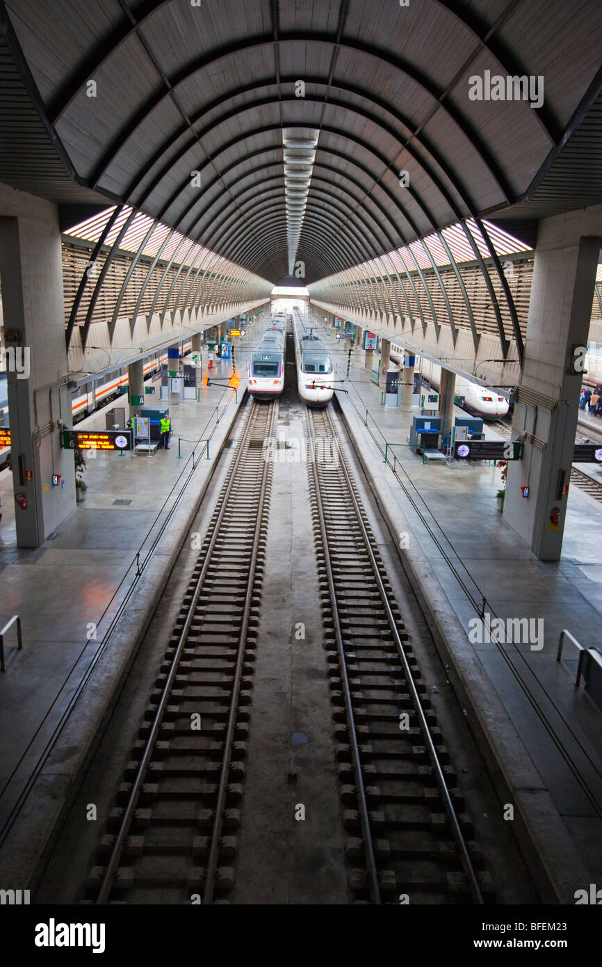
POLYGON ((63 227, 127 204, 311 284, 463 220, 530 248, 602 200, 597 0, 0 0, 0 26, 0 181, 63 227))

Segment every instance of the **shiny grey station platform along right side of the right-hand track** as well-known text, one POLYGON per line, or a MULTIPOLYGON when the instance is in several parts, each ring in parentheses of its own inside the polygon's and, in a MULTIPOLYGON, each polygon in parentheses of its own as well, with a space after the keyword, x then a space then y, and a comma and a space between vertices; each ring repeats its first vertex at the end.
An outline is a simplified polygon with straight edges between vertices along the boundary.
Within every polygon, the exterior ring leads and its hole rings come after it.
MULTIPOLYGON (((602 712, 583 684, 575 688, 577 649, 565 641, 561 661, 557 650, 563 629, 584 647, 599 644, 602 505, 571 486, 561 559, 539 561, 497 511, 500 467, 423 463, 406 442, 419 411, 382 405, 383 387, 371 381, 364 351, 352 350, 350 362, 349 342, 319 329, 316 335, 335 361, 337 386, 348 391, 337 394, 346 425, 466 689, 467 714, 494 749, 494 770, 508 802, 520 803, 556 895, 573 903, 577 887, 602 877, 602 821, 590 801, 602 803, 602 712), (502 620, 533 619, 541 649, 471 643, 475 605, 502 620)), ((495 426, 484 432, 501 438, 495 426)), ((600 477, 597 466, 589 464, 588 473, 600 477)))

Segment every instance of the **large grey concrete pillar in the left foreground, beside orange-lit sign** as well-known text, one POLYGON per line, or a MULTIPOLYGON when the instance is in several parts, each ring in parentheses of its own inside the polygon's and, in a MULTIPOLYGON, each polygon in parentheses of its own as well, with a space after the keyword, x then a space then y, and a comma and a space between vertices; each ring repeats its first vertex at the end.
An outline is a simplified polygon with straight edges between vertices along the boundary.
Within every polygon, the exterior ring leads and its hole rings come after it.
POLYGON ((0 275, 14 495, 27 504, 15 506, 16 542, 39 547, 75 507, 73 454, 61 448, 59 427, 72 426, 61 233, 55 205, 5 185, 0 275))

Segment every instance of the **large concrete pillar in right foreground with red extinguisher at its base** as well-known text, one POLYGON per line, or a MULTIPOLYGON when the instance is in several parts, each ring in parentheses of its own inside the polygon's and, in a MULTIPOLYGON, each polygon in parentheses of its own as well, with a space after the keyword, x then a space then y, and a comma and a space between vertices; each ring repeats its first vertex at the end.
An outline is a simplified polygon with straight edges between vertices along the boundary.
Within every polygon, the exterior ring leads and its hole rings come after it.
POLYGON ((539 224, 513 417, 526 439, 523 459, 508 463, 503 519, 542 561, 558 561, 562 546, 583 378, 576 348, 588 343, 601 236, 602 206, 539 224))

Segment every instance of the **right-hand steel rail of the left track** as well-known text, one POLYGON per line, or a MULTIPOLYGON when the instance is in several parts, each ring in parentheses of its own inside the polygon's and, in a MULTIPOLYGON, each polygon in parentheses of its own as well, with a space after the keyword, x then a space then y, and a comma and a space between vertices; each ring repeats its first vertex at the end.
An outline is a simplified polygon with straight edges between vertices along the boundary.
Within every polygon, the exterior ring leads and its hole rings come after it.
MULTIPOLYGON (((258 403, 254 403, 255 407, 259 407, 258 403)), ((268 424, 266 426, 266 436, 271 437, 275 419, 275 403, 271 404, 271 413, 268 419, 268 424)), ((246 437, 245 437, 246 439, 246 437)), ((241 448, 242 453, 243 447, 241 448)), ((240 459, 239 454, 239 459, 240 459)), ((209 859, 207 861, 207 867, 205 872, 205 886, 203 889, 203 903, 211 903, 214 899, 215 893, 215 871, 217 868, 217 860, 219 857, 219 839, 221 836, 221 828, 223 824, 223 811, 226 802, 227 786, 229 781, 230 773, 230 760, 232 757, 232 743, 234 741, 234 731, 236 727, 236 718, 238 714, 239 707, 239 693, 241 690, 241 680, 243 678, 243 664, 244 664, 244 644, 246 641, 246 631, 248 629, 248 620, 251 611, 251 597, 253 591, 253 584, 255 581, 255 565, 257 562, 257 548, 259 545, 259 538, 261 535, 261 529, 264 526, 262 517, 264 513, 264 508, 266 504, 266 490, 268 487, 268 479, 270 476, 271 463, 269 460, 264 458, 264 468, 260 484, 259 498, 257 504, 257 519, 255 521, 255 533, 253 535, 253 548, 251 551, 251 558, 248 566, 248 579, 246 583, 246 595, 244 601, 244 613, 243 622, 241 625, 241 632, 239 638, 239 653, 236 661, 236 671, 234 676, 234 684, 232 687, 232 697, 230 700, 230 712, 228 715, 228 726, 226 729, 226 736, 224 739, 224 750, 223 750, 223 761, 221 763, 221 773, 219 776, 219 791, 217 794, 217 802, 215 804, 215 814, 214 814, 214 828, 212 831, 211 848, 209 851, 209 859)), ((224 506, 226 500, 224 499, 224 506)), ((215 533, 217 528, 215 528, 215 533)))

